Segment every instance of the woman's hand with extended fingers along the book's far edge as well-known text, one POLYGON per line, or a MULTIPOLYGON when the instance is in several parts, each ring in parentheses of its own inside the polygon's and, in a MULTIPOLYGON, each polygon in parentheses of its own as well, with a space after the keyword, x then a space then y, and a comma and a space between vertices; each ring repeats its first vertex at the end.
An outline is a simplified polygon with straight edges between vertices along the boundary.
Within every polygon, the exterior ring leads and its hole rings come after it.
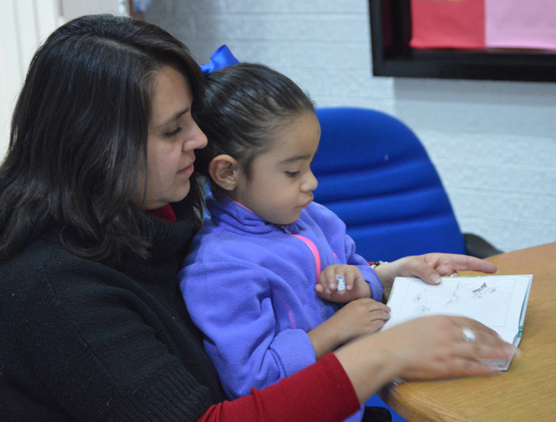
POLYGON ((440 277, 457 271, 471 270, 496 273, 498 268, 484 259, 460 254, 430 253, 404 257, 375 268, 384 286, 384 301, 388 300, 395 277, 418 277, 427 284, 438 284, 440 277))

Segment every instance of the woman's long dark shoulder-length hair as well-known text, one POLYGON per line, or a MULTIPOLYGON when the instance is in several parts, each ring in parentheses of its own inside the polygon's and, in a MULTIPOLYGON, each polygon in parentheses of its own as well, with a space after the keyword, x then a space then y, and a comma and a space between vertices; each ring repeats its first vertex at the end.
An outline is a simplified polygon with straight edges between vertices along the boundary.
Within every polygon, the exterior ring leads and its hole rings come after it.
MULTIPOLYGON (((149 218, 136 192, 147 176, 152 79, 165 65, 190 83, 195 108, 203 74, 158 26, 84 16, 39 47, 0 166, 0 260, 45 235, 108 264, 149 256, 149 218)), ((199 226, 202 188, 195 177, 190 183, 184 206, 199 226)))

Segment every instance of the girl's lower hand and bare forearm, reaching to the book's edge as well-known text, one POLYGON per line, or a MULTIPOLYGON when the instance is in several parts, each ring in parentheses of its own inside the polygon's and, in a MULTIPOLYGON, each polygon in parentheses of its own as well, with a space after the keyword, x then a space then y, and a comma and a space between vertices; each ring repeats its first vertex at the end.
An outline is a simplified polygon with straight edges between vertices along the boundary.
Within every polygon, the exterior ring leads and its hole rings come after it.
POLYGON ((353 300, 309 331, 317 359, 363 334, 377 331, 390 318, 390 307, 371 298, 353 300))

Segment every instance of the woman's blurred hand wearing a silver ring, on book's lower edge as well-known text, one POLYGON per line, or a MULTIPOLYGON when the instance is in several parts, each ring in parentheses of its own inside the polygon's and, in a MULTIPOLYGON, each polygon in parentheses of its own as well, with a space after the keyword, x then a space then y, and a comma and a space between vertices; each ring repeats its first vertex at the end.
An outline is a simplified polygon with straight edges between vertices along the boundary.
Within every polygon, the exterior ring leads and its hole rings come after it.
POLYGON ((335 353, 363 403, 393 378, 436 380, 496 374, 496 366, 479 359, 507 359, 515 350, 476 320, 427 316, 360 337, 335 353), (462 327, 475 332, 475 343, 464 340, 462 327))

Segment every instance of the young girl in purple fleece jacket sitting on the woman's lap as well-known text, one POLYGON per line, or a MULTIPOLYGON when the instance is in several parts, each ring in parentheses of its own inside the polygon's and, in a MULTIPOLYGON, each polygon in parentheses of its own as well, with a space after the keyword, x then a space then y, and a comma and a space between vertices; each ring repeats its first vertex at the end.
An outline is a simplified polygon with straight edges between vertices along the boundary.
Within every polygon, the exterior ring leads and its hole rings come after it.
POLYGON ((313 202, 320 126, 293 81, 263 65, 224 67, 208 75, 195 119, 208 138, 195 165, 210 179, 210 218, 180 286, 236 398, 374 332, 389 307, 343 222, 313 202))

